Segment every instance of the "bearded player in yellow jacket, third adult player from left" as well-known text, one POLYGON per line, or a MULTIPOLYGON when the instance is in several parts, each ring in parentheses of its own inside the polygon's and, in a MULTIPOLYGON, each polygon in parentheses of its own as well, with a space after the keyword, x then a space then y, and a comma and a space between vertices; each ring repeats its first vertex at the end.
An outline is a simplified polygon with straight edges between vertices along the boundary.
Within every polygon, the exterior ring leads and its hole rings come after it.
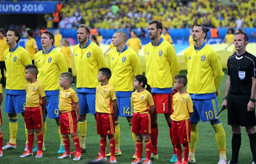
MULTIPOLYGON (((79 141, 81 152, 86 152, 85 136, 87 132, 86 114, 91 113, 95 116, 95 95, 96 87, 99 85, 97 80, 98 70, 107 67, 102 50, 95 43, 89 40, 90 28, 84 24, 79 25, 77 39, 79 44, 73 49, 76 64, 77 96, 81 107, 81 116, 78 122, 79 141)), ((71 152, 76 153, 76 152, 71 152)))

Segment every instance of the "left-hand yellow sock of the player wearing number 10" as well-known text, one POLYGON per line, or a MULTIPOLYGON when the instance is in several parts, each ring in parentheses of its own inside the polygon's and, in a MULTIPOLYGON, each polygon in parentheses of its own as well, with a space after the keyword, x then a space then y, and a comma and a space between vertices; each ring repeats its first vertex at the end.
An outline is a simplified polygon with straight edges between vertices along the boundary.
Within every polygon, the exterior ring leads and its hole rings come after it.
POLYGON ((195 146, 198 141, 198 124, 191 124, 191 138, 189 143, 189 157, 195 158, 195 146))

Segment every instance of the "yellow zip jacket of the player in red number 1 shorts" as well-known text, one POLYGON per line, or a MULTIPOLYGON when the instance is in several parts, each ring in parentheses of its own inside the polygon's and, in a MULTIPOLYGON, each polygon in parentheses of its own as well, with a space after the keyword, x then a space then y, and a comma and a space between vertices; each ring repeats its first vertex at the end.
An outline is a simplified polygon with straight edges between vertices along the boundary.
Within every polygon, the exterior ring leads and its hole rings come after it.
POLYGON ((145 76, 152 93, 172 93, 174 77, 180 72, 174 46, 163 38, 153 46, 152 42, 144 47, 146 60, 145 76), (161 80, 159 80, 161 79, 161 80))

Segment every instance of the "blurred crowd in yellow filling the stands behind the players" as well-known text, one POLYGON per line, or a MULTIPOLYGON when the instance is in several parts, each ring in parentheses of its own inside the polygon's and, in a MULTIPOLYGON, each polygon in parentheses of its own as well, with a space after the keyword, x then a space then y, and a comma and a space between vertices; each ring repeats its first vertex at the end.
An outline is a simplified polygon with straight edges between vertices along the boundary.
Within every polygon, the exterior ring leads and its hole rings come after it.
POLYGON ((168 28, 256 27, 254 0, 66 0, 47 15, 47 28, 142 29, 150 20, 168 28))

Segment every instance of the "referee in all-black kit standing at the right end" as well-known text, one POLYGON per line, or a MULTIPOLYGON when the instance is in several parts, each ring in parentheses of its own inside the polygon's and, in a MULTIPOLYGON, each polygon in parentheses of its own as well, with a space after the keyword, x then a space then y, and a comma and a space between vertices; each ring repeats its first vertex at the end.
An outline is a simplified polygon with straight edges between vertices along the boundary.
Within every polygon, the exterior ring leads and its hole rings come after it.
POLYGON ((256 57, 246 51, 248 36, 244 32, 235 35, 236 53, 227 59, 227 83, 221 106, 227 109, 228 124, 232 127, 232 158, 228 164, 238 164, 241 146, 241 127, 245 127, 250 139, 253 164, 256 164, 256 57))

